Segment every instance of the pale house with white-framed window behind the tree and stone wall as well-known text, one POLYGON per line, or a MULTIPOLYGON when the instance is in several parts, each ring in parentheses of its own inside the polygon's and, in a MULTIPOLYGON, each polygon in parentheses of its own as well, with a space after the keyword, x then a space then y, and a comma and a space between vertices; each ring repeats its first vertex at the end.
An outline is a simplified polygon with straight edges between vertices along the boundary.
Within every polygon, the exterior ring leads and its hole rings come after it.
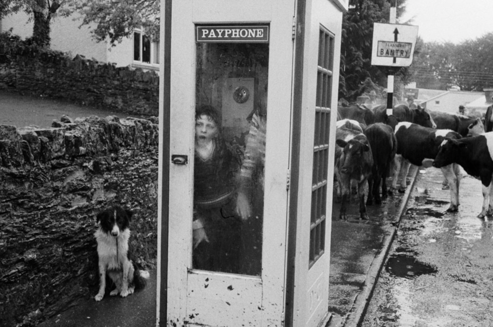
MULTIPOLYGON (((79 28, 81 21, 77 18, 76 15, 58 15, 52 18, 51 49, 67 52, 73 57, 82 55, 87 59, 115 63, 117 67, 159 70, 159 42, 151 42, 142 31, 136 30, 132 37, 111 46, 109 42, 93 40, 90 26, 84 25, 79 28)), ((0 33, 11 28, 13 34, 23 39, 33 34, 33 22, 29 21, 29 16, 23 11, 1 19, 0 33)))

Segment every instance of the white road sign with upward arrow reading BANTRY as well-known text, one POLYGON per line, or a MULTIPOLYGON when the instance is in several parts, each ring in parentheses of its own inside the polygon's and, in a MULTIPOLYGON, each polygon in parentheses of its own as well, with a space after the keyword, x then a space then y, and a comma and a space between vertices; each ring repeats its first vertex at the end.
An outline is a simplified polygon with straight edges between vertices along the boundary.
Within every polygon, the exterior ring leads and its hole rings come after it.
POLYGON ((371 64, 411 65, 417 38, 418 26, 374 23, 371 64))

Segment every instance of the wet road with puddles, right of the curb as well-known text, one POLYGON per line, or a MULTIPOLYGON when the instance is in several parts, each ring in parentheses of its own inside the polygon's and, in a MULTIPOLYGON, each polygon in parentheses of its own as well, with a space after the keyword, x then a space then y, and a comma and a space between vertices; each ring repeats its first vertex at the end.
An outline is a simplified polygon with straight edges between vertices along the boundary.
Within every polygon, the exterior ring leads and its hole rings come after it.
POLYGON ((493 220, 462 171, 458 213, 439 169, 418 174, 363 327, 493 326, 493 220))

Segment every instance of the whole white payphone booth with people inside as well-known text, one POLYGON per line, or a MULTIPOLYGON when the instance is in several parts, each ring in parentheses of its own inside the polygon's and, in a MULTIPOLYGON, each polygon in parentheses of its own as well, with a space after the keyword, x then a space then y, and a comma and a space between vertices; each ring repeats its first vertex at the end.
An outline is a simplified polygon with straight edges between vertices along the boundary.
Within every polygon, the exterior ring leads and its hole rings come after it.
POLYGON ((347 0, 162 2, 160 326, 323 326, 347 0))

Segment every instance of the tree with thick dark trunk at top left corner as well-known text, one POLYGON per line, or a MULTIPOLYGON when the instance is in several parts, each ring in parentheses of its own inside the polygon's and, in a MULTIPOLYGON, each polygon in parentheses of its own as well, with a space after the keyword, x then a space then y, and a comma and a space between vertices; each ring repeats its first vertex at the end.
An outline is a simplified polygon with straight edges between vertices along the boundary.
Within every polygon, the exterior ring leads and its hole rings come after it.
POLYGON ((34 21, 32 41, 38 46, 50 46, 51 18, 60 8, 58 0, 2 0, 0 1, 0 19, 24 10, 34 21))

